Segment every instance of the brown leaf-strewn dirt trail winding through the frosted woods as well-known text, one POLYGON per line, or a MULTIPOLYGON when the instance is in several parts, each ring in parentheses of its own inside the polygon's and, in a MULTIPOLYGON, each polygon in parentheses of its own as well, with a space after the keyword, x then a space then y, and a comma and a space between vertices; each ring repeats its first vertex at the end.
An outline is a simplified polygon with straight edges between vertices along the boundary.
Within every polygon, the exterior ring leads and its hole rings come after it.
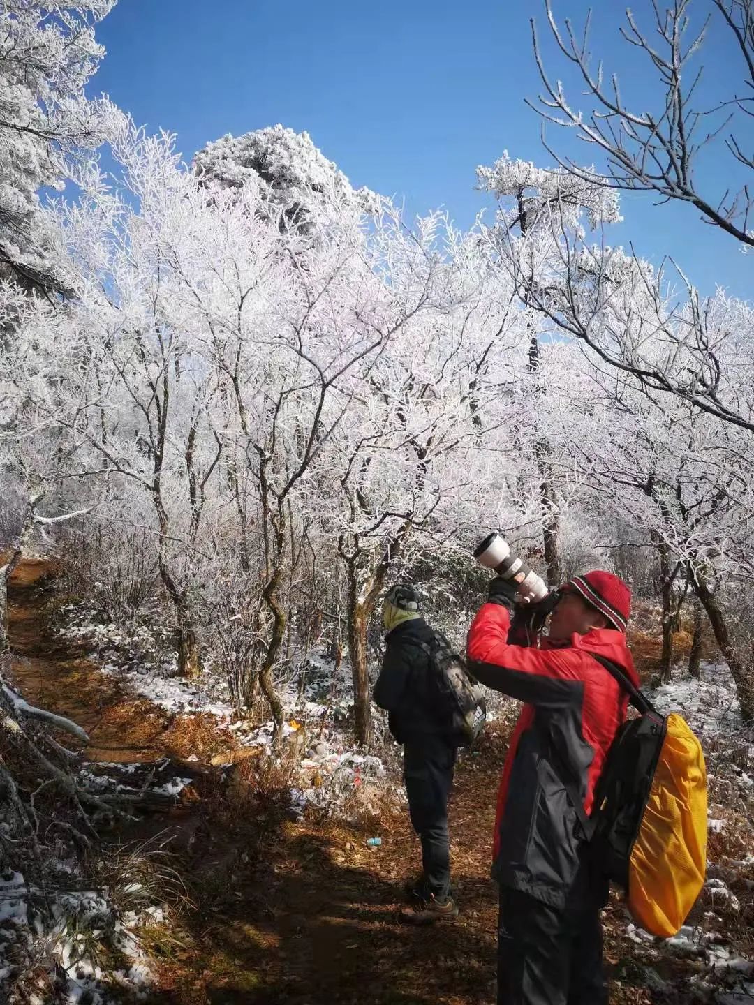
MULTIPOLYGON (((200 758, 190 764, 195 780, 184 802, 151 814, 140 831, 172 837, 172 864, 191 901, 150 940, 153 1005, 495 1001, 497 889, 489 856, 506 750, 495 726, 479 752, 461 755, 456 771, 450 832, 460 917, 429 929, 403 925, 401 887, 419 861, 406 814, 358 827, 316 813, 297 822, 284 773, 258 760, 239 765, 228 784, 209 765, 214 750, 228 746, 227 731, 135 700, 53 634, 45 615, 53 576, 49 563, 27 560, 11 581, 13 672, 24 697, 82 726, 95 762, 165 758, 183 772, 191 752, 200 758), (373 834, 382 837, 380 848, 366 846, 373 834)), ((625 979, 633 965, 622 909, 607 914, 607 969, 623 978, 612 982, 610 1001, 649 1003, 648 992, 625 979)))

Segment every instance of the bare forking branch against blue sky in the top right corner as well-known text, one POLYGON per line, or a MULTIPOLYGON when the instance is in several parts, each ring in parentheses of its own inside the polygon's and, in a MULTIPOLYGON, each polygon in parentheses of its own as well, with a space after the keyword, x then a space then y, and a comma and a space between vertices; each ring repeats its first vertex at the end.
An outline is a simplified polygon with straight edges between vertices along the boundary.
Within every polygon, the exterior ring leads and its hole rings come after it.
MULTIPOLYGON (((709 223, 752 247, 754 197, 750 182, 744 180, 733 191, 726 187, 719 195, 712 196, 699 188, 700 173, 695 168, 701 151, 723 136, 724 146, 733 157, 731 167, 752 168, 751 155, 743 152, 734 133, 736 126, 741 125, 737 124, 736 113, 747 118, 751 114, 751 94, 741 94, 734 87, 730 99, 719 108, 703 108, 696 92, 702 74, 698 56, 713 13, 721 17, 743 56, 740 80, 744 91, 750 91, 754 82, 751 29, 754 9, 751 0, 713 0, 707 6, 710 9, 707 18, 701 26, 692 28, 696 10, 693 0, 652 4, 647 13, 654 21, 657 45, 651 43, 633 12, 626 10, 625 25, 620 29, 622 39, 645 58, 657 76, 654 109, 639 112, 623 97, 617 75, 606 72, 601 61, 596 66, 592 64, 588 50, 591 15, 587 16, 583 33, 578 34, 569 19, 563 27, 558 24, 551 0, 545 0, 552 37, 561 55, 575 68, 585 92, 596 100, 597 108, 584 114, 570 104, 561 80, 554 80, 548 72, 533 19, 534 53, 544 92, 538 103, 528 104, 547 122, 575 130, 580 139, 604 156, 607 169, 600 172, 584 168, 571 158, 560 158, 548 147, 549 153, 574 179, 606 188, 654 191, 665 199, 690 203, 709 223)), ((746 128, 747 118, 742 128, 746 128)))

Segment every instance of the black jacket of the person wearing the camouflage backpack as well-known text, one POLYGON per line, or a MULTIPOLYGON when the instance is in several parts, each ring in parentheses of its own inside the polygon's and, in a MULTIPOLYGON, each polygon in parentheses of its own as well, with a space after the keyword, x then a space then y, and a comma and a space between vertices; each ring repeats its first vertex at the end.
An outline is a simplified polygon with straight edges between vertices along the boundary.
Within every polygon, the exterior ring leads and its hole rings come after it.
POLYGON ((429 657, 421 648, 422 642, 431 645, 433 637, 423 618, 403 621, 385 636, 385 656, 372 696, 387 711, 390 732, 399 744, 445 732, 435 711, 429 657))

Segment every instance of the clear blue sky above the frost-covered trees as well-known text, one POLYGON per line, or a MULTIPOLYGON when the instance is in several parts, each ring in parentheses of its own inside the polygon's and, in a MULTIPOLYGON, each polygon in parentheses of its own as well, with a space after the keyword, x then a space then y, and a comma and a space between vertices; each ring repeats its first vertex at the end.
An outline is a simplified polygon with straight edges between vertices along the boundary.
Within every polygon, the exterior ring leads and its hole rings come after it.
MULTIPOLYGON (((579 23, 589 4, 554 6, 579 23)), ((648 103, 650 74, 618 40, 619 5, 595 6, 592 49, 621 72, 626 94, 648 103)), ((633 9, 646 15, 648 0, 633 9)), ((308 130, 354 185, 398 196, 412 213, 444 206, 468 226, 487 204, 475 190, 478 164, 507 149, 552 165, 540 119, 524 105, 540 89, 529 17, 543 27, 543 10, 540 0, 120 0, 98 32, 108 55, 89 92, 109 93, 150 130, 176 133, 187 160, 225 133, 278 122, 308 130)), ((567 80, 551 61, 553 76, 567 80)), ((712 33, 705 62, 702 97, 713 104, 738 65, 722 32, 712 33)), ((571 134, 550 127, 548 140, 593 160, 571 134)), ((701 163, 713 191, 730 175, 722 150, 701 163)), ((625 222, 607 239, 633 241, 655 262, 673 255, 703 292, 719 283, 751 296, 754 255, 693 208, 652 201, 624 195, 625 222)))

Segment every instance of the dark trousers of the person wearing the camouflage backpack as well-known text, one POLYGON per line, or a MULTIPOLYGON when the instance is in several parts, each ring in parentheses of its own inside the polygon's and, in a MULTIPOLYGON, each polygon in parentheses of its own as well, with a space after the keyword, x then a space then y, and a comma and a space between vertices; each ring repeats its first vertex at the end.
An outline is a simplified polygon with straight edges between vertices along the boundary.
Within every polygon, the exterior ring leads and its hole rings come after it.
POLYGON ((403 780, 411 825, 421 838, 424 891, 445 900, 450 891, 447 797, 453 784, 455 748, 441 736, 407 739, 403 780))

